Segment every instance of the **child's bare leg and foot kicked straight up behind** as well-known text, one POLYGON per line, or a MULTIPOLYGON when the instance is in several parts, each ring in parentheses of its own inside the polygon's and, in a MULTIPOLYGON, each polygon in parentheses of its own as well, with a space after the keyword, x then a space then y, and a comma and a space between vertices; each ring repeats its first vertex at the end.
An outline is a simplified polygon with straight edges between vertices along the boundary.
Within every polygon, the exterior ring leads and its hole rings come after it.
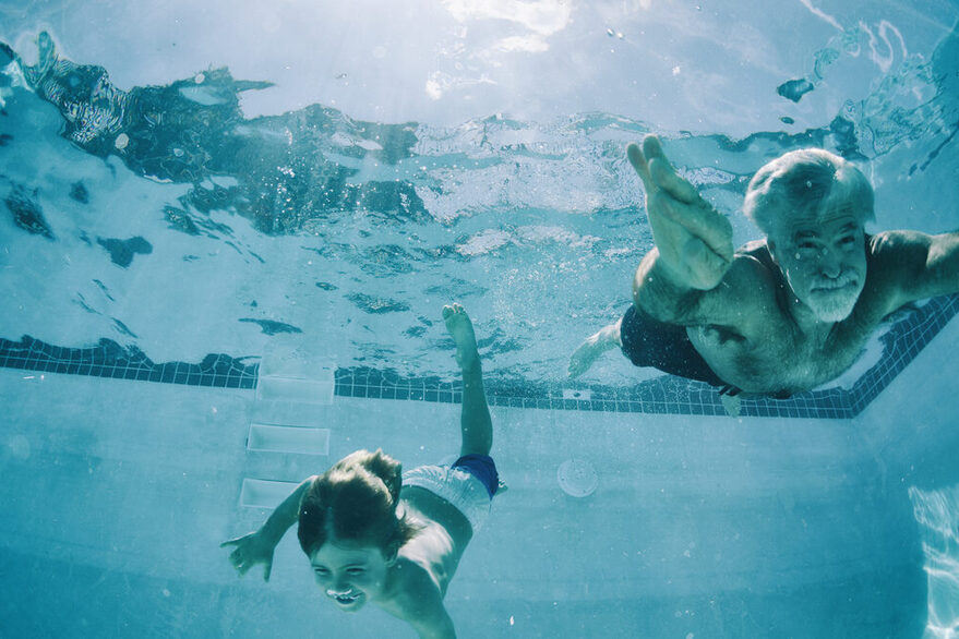
POLYGON ((493 446, 493 422, 483 390, 483 371, 476 348, 476 334, 469 315, 459 304, 443 306, 446 329, 456 342, 456 362, 463 371, 463 430, 460 455, 489 455, 493 446))

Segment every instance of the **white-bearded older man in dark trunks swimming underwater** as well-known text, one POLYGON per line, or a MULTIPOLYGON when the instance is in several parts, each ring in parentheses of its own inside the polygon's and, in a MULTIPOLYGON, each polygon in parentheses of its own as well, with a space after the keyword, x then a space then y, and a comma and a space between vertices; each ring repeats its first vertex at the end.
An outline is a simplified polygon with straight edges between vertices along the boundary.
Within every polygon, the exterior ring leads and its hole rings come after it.
POLYGON ((620 347, 637 366, 788 396, 839 376, 889 313, 959 291, 959 232, 866 234, 872 185, 831 153, 793 150, 756 172, 743 212, 766 239, 738 251, 729 220, 676 174, 656 136, 626 154, 655 246, 626 314, 573 353, 574 377, 620 347))

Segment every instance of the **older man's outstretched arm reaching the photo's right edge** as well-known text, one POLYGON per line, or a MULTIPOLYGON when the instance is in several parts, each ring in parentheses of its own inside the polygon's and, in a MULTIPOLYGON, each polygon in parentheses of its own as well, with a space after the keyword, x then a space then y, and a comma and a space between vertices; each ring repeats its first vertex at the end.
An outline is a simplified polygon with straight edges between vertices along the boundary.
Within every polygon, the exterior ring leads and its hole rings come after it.
POLYGON ((873 240, 878 286, 888 312, 916 300, 959 292, 959 231, 930 236, 886 231, 873 240))

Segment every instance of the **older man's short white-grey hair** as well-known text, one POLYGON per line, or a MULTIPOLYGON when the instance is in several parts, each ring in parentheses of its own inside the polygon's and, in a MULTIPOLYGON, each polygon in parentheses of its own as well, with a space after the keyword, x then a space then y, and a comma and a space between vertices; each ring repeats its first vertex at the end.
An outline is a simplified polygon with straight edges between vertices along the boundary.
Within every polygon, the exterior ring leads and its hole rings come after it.
POLYGON ((873 186, 852 162, 822 148, 792 150, 764 165, 746 188, 743 213, 767 236, 783 215, 819 217, 846 208, 874 218, 873 186))

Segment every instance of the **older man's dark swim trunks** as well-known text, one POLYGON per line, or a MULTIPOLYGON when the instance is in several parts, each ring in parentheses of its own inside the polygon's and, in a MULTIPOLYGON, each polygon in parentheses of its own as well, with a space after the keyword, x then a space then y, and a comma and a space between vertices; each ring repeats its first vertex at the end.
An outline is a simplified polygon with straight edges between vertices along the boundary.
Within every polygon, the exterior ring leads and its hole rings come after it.
POLYGON ((620 326, 623 354, 636 366, 652 366, 663 373, 726 386, 703 355, 693 347, 685 326, 667 324, 631 305, 620 326))

